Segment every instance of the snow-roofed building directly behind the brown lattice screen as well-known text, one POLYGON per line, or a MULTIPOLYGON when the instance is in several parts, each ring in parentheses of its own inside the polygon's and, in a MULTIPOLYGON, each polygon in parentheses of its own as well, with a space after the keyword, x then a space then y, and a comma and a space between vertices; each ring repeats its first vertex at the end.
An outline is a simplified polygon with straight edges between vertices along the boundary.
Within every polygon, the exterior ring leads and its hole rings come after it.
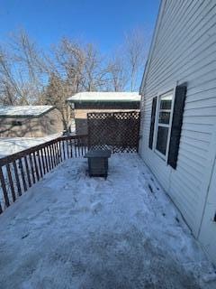
POLYGON ((137 110, 137 92, 80 92, 67 99, 74 111, 76 134, 87 134, 87 113, 137 110))

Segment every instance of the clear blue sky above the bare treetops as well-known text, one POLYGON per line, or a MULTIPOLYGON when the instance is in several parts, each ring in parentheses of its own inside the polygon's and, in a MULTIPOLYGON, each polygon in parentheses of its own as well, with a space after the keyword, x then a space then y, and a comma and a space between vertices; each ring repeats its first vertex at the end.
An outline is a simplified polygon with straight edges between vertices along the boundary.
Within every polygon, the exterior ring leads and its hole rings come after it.
POLYGON ((0 41, 23 28, 44 48, 68 36, 108 52, 136 27, 150 42, 158 5, 159 0, 0 0, 0 41))

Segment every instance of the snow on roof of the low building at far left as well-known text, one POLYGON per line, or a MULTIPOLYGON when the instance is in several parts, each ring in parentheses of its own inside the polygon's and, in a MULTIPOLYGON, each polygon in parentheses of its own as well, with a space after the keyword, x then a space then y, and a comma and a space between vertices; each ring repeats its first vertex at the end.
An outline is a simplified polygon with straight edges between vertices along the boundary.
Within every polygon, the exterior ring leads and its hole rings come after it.
POLYGON ((52 106, 0 106, 0 117, 40 117, 52 106))

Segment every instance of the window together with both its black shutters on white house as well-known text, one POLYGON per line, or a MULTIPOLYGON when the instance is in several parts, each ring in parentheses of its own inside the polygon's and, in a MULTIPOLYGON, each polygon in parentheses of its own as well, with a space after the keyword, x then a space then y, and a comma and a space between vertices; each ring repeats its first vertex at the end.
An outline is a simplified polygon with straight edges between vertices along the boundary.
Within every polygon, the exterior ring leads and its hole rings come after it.
POLYGON ((148 147, 173 169, 177 167, 186 93, 184 82, 173 91, 152 98, 148 147))

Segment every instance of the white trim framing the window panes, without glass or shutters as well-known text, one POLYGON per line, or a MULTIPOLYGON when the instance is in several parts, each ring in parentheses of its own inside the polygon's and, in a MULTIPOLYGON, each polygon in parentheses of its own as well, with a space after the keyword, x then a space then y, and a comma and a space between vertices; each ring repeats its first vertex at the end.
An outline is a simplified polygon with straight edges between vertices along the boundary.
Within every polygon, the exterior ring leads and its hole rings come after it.
MULTIPOLYGON (((157 94, 157 109, 156 109, 156 121, 155 121, 155 128, 154 128, 154 139, 153 139, 153 149, 154 152, 167 163, 168 159, 168 151, 169 151, 169 144, 170 144, 170 135, 171 135, 171 128, 172 128, 172 122, 173 122, 173 112, 174 112, 174 103, 175 103, 175 89, 176 86, 173 89, 166 89, 165 91, 161 91, 157 94), (159 107, 160 107, 160 99, 161 97, 165 96, 168 93, 173 94, 172 98, 172 106, 170 110, 170 118, 169 118, 169 124, 159 124, 159 126, 168 127, 168 135, 167 135, 167 143, 166 143, 166 155, 161 154, 157 148, 157 131, 158 131, 158 118, 159 118, 159 107)), ((164 109, 165 111, 166 109, 164 109)), ((168 110, 169 111, 169 110, 168 110)))

